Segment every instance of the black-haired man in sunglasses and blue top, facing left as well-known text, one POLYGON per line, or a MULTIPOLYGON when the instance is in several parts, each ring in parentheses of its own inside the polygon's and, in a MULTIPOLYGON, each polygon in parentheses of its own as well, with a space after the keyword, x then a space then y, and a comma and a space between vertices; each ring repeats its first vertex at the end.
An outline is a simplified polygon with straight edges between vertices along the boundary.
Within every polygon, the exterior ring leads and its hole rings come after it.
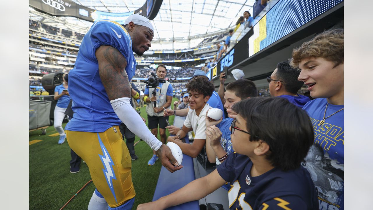
POLYGON ((267 77, 271 95, 286 98, 292 104, 302 108, 310 101, 310 98, 297 94, 303 85, 303 82, 298 81, 299 74, 300 71, 291 67, 288 61, 279 62, 272 75, 267 77))

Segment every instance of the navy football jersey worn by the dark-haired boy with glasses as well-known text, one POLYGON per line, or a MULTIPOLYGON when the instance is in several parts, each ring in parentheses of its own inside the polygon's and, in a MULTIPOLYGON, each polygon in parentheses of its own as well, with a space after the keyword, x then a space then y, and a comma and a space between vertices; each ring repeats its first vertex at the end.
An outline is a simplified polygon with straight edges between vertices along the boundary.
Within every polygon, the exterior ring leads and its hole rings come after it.
POLYGON ((217 168, 231 182, 229 209, 317 209, 314 185, 303 167, 286 172, 274 168, 252 177, 252 166, 249 157, 233 153, 217 168))

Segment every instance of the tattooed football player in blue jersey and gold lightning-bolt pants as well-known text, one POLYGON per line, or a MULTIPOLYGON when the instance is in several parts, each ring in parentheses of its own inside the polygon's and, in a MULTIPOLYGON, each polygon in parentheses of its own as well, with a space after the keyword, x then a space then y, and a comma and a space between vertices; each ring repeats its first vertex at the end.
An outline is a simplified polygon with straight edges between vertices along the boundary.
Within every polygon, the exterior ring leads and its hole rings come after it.
POLYGON ((130 105, 129 81, 136 69, 133 52, 147 51, 153 34, 149 19, 138 14, 130 15, 124 27, 115 21, 96 21, 83 37, 69 73, 74 115, 65 129, 70 148, 86 161, 96 186, 88 210, 131 209, 134 204, 131 157, 119 131, 121 122, 157 152, 170 172, 181 169, 173 166, 178 163, 169 147, 130 105))

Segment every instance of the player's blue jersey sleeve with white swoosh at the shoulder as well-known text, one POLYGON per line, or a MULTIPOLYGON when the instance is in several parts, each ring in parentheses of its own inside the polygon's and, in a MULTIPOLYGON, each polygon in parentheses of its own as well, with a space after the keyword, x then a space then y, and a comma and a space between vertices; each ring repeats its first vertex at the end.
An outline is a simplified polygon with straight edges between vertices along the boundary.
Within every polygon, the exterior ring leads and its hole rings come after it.
MULTIPOLYGON (((97 21, 89 31, 89 37, 93 47, 93 57, 96 59, 95 52, 101 45, 115 47, 128 61, 132 40, 128 32, 118 23, 109 20, 97 21)), ((87 46, 84 46, 87 47, 87 46)), ((97 60, 97 59, 96 59, 97 60)))

